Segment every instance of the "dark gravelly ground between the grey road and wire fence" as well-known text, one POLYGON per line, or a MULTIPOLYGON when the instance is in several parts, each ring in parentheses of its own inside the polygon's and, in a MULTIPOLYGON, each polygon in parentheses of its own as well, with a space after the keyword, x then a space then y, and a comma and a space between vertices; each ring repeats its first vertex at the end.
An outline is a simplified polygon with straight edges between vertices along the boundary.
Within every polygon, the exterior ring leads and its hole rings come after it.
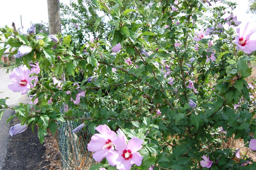
MULTIPOLYGON (((20 120, 14 118, 10 125, 17 123, 20 120)), ((10 137, 3 170, 39 170, 49 164, 45 161, 45 147, 39 142, 37 127, 34 131, 29 127, 23 133, 10 137)))

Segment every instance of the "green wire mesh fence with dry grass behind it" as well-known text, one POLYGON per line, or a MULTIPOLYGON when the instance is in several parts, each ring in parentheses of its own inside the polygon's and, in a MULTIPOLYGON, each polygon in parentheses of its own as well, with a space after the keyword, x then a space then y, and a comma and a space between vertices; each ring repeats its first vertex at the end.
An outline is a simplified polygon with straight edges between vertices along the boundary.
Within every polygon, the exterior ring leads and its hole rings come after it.
POLYGON ((91 134, 83 128, 76 133, 72 130, 82 122, 59 122, 58 143, 63 169, 87 170, 93 164, 92 153, 87 150, 91 134))

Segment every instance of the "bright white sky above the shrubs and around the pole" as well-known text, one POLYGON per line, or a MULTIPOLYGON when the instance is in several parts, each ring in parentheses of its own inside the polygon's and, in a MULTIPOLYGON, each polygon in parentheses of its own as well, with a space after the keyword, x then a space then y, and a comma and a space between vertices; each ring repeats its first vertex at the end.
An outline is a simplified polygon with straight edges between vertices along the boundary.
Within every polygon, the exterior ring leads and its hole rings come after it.
MULTIPOLYGON (((248 0, 232 0, 238 5, 234 11, 237 15, 237 20, 246 23, 248 21, 255 22, 256 14, 247 14, 248 0)), ((65 4, 68 4, 69 0, 60 0, 65 4)), ((153 2, 153 0, 152 0, 153 2)), ((214 3, 212 3, 214 4, 214 3)), ((2 0, 0 10, 0 27, 8 25, 12 27, 12 22, 15 23, 16 27, 20 27, 20 15, 22 16, 23 30, 27 30, 31 22, 32 23, 47 23, 48 12, 47 12, 47 0, 2 0)))

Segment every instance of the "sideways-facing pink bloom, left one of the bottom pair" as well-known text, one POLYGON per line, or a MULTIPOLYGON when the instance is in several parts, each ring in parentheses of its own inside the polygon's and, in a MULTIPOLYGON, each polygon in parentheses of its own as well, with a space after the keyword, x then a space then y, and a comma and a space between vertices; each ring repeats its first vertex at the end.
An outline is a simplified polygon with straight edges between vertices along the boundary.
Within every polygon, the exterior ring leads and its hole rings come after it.
POLYGON ((101 162, 109 151, 114 150, 113 141, 116 140, 116 133, 110 130, 107 125, 99 125, 95 129, 100 133, 92 136, 90 143, 87 145, 87 149, 88 151, 94 152, 92 157, 95 161, 101 162))

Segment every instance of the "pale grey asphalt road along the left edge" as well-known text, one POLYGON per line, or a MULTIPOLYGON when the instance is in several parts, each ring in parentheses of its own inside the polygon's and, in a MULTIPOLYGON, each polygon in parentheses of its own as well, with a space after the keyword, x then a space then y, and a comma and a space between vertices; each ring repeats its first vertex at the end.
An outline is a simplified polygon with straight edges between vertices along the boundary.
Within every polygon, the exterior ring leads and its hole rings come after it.
MULTIPOLYGON (((8 89, 9 74, 6 74, 6 70, 0 69, 0 98, 9 97, 10 99, 6 100, 6 104, 10 107, 18 105, 19 102, 28 102, 28 97, 26 95, 21 95, 20 93, 15 93, 12 90, 8 89)), ((11 109, 7 109, 4 111, 2 119, 0 120, 0 169, 2 169, 4 165, 4 161, 6 158, 8 142, 10 140, 9 129, 10 123, 5 125, 6 120, 13 114, 14 111, 11 109)))

